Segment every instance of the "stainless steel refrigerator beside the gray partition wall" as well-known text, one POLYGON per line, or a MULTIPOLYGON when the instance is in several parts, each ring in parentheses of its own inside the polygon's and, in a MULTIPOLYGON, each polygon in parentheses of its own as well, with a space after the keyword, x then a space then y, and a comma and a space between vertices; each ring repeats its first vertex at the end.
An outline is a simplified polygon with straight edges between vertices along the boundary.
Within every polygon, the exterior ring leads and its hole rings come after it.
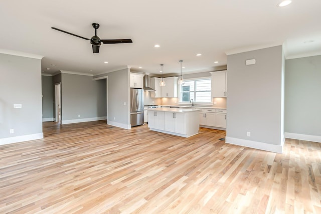
POLYGON ((130 89, 130 124, 138 126, 144 123, 144 96, 143 90, 130 89))

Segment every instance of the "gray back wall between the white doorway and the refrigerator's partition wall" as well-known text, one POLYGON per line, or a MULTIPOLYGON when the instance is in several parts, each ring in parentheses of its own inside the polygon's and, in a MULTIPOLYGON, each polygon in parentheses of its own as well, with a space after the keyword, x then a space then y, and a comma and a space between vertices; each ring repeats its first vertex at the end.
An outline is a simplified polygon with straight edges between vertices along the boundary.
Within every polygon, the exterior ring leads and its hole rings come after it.
POLYGON ((61 82, 62 123, 106 117, 106 80, 96 81, 92 76, 62 73, 61 82))

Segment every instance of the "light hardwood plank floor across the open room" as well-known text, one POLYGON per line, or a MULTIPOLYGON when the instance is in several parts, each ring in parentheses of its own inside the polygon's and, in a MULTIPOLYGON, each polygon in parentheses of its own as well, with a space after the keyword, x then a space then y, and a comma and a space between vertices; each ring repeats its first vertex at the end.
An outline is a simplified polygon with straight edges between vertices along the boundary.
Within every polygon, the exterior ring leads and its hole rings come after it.
POLYGON ((321 213, 321 144, 283 154, 106 121, 0 146, 0 213, 321 213))

